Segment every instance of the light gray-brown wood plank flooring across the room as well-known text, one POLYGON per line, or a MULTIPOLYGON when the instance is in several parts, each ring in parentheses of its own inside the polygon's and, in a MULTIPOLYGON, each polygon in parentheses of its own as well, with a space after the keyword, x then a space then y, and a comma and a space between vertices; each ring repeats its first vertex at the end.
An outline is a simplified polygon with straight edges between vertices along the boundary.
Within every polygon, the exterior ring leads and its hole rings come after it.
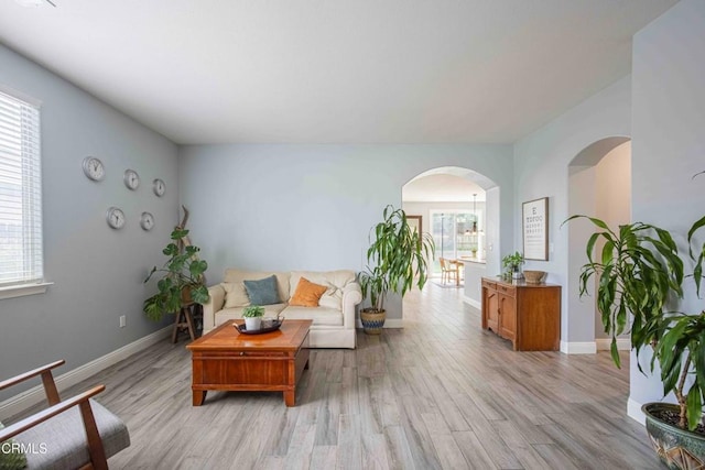
POLYGON ((127 423, 113 469, 660 468, 626 415, 628 368, 607 353, 513 352, 462 289, 433 283, 404 318, 360 331, 357 350, 313 350, 292 408, 273 392, 209 392, 193 407, 183 338, 73 390, 105 383, 99 401, 127 423))

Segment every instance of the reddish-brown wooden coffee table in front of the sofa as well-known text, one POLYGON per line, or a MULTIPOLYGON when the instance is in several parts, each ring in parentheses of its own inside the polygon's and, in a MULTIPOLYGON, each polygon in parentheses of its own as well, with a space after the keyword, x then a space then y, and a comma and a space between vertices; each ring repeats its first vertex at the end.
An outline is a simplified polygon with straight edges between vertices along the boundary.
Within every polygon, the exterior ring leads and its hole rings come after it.
POLYGON ((208 390, 282 391, 286 406, 294 406, 296 382, 308 369, 312 321, 284 320, 279 330, 262 335, 241 335, 232 323, 186 346, 192 354, 194 406, 203 404, 208 390))

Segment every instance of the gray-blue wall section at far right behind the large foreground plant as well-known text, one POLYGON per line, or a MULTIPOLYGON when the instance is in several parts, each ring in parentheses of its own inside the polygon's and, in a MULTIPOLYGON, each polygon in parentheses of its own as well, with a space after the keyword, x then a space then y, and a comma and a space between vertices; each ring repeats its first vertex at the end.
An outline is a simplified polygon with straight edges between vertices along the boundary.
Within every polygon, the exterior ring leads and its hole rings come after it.
MULTIPOLYGON (((632 216, 684 245, 705 214, 705 175, 691 179, 705 171, 705 1, 682 0, 640 31, 632 64, 632 216)), ((688 313, 704 306, 692 289, 673 305, 688 313)), ((633 407, 662 395, 658 378, 631 369, 633 407)))

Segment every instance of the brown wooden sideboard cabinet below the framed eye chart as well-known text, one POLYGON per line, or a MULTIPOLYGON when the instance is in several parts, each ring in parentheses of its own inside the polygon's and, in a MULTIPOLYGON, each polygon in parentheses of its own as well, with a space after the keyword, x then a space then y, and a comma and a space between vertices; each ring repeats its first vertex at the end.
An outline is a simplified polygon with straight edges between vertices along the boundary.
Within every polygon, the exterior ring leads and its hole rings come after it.
POLYGON ((514 351, 557 351, 561 286, 482 277, 482 329, 509 339, 514 351))

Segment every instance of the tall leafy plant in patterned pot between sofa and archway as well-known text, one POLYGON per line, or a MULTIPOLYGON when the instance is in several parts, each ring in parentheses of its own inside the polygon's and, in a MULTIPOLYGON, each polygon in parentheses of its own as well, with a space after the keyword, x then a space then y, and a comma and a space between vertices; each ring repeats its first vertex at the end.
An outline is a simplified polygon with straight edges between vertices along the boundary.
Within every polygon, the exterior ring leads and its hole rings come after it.
POLYGON ((404 294, 414 285, 423 288, 427 280, 426 260, 435 252, 429 233, 417 233, 406 221, 403 209, 387 206, 382 221, 370 229, 367 262, 373 267, 358 276, 362 296, 369 294, 371 306, 360 309, 365 332, 379 335, 387 318, 384 298, 388 292, 404 294))

